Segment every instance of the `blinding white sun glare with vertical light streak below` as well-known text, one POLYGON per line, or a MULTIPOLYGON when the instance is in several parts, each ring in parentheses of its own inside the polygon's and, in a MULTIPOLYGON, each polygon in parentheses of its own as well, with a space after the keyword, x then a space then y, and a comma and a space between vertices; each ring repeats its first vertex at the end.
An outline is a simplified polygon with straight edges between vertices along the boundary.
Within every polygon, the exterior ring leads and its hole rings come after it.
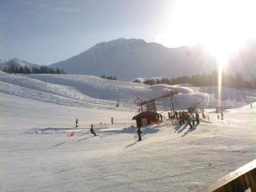
POLYGON ((154 41, 165 46, 201 44, 216 57, 219 106, 222 71, 232 54, 256 38, 255 0, 174 0, 154 41))

